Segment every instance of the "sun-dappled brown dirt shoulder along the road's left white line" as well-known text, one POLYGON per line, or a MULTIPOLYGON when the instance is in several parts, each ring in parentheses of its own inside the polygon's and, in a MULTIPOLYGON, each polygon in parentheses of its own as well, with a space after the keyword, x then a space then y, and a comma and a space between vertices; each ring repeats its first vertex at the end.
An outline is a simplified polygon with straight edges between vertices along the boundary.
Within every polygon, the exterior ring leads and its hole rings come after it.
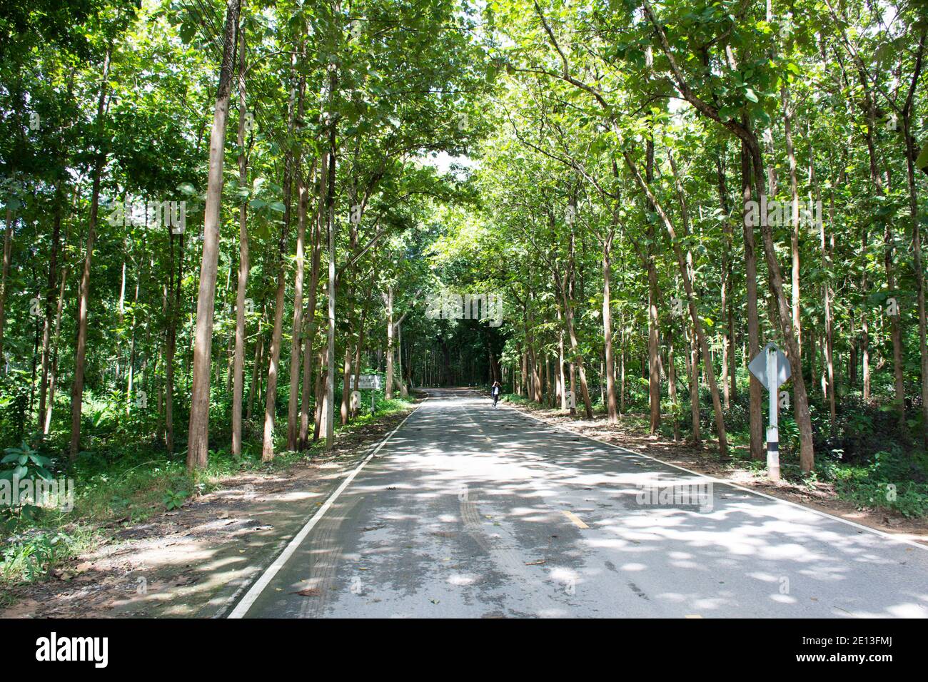
POLYGON ((371 444, 406 416, 340 435, 332 453, 224 478, 210 493, 104 540, 47 579, 11 587, 0 618, 217 617, 316 512, 371 444))

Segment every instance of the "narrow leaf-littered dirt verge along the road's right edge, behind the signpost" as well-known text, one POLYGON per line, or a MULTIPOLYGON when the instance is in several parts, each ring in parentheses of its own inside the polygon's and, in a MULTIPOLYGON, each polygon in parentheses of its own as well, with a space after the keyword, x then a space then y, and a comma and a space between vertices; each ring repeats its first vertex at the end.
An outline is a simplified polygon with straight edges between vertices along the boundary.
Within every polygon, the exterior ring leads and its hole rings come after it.
POLYGON ((772 483, 764 478, 762 471, 752 470, 749 460, 745 458, 730 457, 723 461, 715 444, 696 448, 682 440, 675 442, 651 436, 641 428, 641 424, 647 419, 646 415, 643 419, 640 415, 629 415, 627 418, 620 418, 618 424, 609 424, 606 417, 600 414, 595 414, 590 421, 566 415, 560 409, 549 409, 534 403, 519 402, 508 405, 535 418, 544 419, 550 424, 556 424, 560 428, 928 545, 928 519, 909 519, 890 509, 857 508, 852 502, 841 499, 831 483, 786 480, 772 483))

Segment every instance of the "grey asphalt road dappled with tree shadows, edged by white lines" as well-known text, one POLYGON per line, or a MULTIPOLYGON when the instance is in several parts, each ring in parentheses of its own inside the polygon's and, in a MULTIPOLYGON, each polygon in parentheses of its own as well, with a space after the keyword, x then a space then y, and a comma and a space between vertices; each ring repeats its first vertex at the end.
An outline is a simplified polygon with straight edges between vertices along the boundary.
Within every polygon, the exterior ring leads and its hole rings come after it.
POLYGON ((245 615, 928 617, 925 549, 709 483, 433 391, 245 615))

